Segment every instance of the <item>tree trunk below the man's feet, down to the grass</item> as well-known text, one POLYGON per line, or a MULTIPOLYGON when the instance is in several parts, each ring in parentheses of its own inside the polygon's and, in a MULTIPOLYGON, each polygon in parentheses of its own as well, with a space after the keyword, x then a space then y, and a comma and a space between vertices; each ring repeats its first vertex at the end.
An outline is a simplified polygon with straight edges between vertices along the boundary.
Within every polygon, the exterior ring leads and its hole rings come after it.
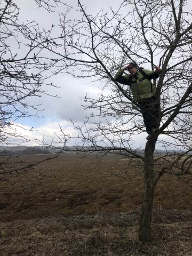
POLYGON ((145 194, 143 198, 139 225, 139 239, 150 241, 151 217, 154 199, 154 149, 156 140, 148 140, 145 148, 145 194))

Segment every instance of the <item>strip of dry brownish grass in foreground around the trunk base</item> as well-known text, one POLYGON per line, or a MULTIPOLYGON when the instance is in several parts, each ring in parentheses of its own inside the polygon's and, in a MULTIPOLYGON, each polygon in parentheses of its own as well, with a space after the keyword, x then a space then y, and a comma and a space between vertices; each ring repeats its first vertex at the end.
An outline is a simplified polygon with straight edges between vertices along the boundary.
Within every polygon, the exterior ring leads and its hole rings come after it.
POLYGON ((191 211, 154 212, 153 241, 137 238, 139 211, 0 223, 2 256, 190 256, 191 211))

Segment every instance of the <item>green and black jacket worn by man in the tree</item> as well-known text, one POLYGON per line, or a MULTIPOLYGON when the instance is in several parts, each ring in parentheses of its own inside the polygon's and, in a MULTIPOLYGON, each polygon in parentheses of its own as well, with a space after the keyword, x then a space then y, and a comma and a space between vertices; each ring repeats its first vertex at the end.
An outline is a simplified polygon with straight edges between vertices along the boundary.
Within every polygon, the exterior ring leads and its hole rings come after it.
MULTIPOLYGON (((149 79, 156 79, 159 76, 157 71, 151 71, 147 69, 142 69, 149 79)), ((154 96, 156 87, 151 81, 143 76, 139 69, 134 76, 123 75, 124 70, 119 69, 114 79, 121 83, 131 86, 131 92, 133 94, 133 100, 140 102, 145 99, 149 99, 154 96)))

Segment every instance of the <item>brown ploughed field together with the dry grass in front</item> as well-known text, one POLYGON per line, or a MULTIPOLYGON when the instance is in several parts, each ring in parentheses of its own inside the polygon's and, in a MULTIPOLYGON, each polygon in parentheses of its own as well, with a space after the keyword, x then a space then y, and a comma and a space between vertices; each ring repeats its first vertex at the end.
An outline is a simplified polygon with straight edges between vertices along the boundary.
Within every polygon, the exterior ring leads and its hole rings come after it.
POLYGON ((1 255, 192 255, 191 187, 159 180, 147 244, 137 237, 142 192, 142 163, 111 155, 63 154, 12 176, 1 182, 1 255))

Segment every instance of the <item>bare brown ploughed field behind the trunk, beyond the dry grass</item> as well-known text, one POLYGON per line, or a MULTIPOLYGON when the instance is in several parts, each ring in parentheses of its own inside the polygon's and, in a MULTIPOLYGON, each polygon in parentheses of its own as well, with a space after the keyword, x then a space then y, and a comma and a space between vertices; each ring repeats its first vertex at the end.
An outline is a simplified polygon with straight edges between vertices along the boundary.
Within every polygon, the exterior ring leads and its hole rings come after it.
MULTIPOLYGON (((31 156, 41 161, 43 155, 31 156)), ((140 207, 143 191, 141 163, 116 156, 102 162, 93 156, 63 154, 1 183, 0 216, 6 221, 47 217, 126 212, 140 207)), ((155 190, 159 209, 192 209, 192 189, 175 176, 164 175, 155 190)))

